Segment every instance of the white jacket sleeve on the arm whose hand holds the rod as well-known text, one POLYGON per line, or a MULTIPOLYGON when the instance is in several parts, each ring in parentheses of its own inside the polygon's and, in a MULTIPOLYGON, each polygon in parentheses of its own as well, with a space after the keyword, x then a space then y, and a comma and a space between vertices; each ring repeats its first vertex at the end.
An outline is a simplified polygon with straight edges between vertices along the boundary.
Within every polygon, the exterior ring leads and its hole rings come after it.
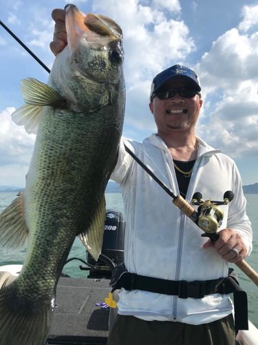
POLYGON ((235 163, 233 164, 232 190, 234 199, 228 204, 227 226, 242 237, 248 255, 250 255, 252 251, 252 228, 248 215, 246 215, 246 198, 244 197, 241 177, 235 163))

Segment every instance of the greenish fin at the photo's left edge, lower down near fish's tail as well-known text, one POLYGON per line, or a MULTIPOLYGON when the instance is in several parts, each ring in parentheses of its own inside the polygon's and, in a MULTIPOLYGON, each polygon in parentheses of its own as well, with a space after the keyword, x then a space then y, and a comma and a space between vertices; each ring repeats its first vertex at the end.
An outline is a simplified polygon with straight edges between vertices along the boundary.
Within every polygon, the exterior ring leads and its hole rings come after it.
POLYGON ((24 219, 23 193, 0 215, 0 244, 6 248, 23 246, 29 230, 24 219))

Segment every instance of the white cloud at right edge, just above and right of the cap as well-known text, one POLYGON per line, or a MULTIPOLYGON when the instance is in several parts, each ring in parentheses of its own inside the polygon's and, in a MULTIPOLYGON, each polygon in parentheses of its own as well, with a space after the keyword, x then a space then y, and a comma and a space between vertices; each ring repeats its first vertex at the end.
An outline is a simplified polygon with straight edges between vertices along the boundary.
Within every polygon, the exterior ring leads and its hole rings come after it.
POLYGON ((220 36, 195 69, 206 92, 217 88, 237 90, 245 80, 258 80, 258 32, 248 36, 236 28, 220 36))

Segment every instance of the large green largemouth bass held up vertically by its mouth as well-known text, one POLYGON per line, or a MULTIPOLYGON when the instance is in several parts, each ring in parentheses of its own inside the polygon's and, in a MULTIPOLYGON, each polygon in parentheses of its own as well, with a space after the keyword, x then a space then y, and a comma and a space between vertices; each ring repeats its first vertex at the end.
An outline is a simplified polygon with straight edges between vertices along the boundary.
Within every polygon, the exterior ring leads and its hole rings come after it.
POLYGON ((122 31, 111 19, 66 6, 68 45, 48 85, 22 81, 12 118, 37 132, 25 192, 0 216, 0 243, 28 251, 0 290, 0 345, 45 344, 58 277, 76 235, 95 259, 105 187, 116 164, 125 110, 122 31))

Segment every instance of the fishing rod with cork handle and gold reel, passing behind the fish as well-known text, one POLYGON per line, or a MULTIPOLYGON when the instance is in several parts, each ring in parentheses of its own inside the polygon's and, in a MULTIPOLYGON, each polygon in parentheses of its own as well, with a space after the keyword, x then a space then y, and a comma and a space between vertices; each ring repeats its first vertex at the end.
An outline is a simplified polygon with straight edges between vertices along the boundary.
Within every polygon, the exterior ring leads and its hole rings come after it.
MULTIPOLYGON (((21 44, 21 46, 43 67, 50 73, 50 69, 38 58, 32 50, 30 50, 25 44, 6 26, 0 21, 6 31, 14 37, 14 39, 21 44)), ((125 145, 125 144, 124 144, 125 145)), ((204 231, 202 237, 209 237, 212 242, 216 242, 219 238, 217 229, 221 223, 224 214, 218 205, 228 204, 234 197, 233 192, 227 191, 224 194, 224 201, 211 201, 202 200, 201 193, 195 193, 193 195, 192 204, 199 205, 197 211, 189 204, 181 195, 175 195, 153 172, 125 145, 125 150, 131 155, 131 157, 160 185, 165 192, 173 199, 173 204, 180 208, 182 213, 189 217, 199 228, 204 231)), ((251 280, 258 286, 258 273, 243 259, 239 262, 235 262, 235 265, 239 267, 251 280)))

